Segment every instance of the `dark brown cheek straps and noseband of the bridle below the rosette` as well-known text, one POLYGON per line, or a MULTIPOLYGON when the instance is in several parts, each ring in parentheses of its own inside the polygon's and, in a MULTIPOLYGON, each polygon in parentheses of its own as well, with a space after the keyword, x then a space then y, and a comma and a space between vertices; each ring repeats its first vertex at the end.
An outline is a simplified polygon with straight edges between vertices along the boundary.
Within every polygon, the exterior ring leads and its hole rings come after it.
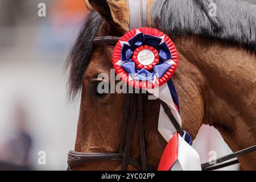
POLYGON ((144 142, 144 125, 143 125, 143 96, 142 94, 130 94, 125 96, 125 105, 123 107, 123 118, 121 124, 121 139, 118 153, 92 153, 86 154, 81 152, 70 151, 68 154, 68 165, 77 166, 83 163, 99 162, 101 160, 119 160, 121 161, 120 170, 127 170, 128 164, 137 166, 143 170, 155 170, 154 167, 147 164, 146 150, 144 142), (130 114, 130 117, 129 117, 130 114), (139 121, 139 146, 141 148, 141 162, 130 156, 131 142, 135 128, 135 122, 139 121), (130 122, 128 123, 130 119, 130 122), (129 127, 127 128, 127 125, 129 127))

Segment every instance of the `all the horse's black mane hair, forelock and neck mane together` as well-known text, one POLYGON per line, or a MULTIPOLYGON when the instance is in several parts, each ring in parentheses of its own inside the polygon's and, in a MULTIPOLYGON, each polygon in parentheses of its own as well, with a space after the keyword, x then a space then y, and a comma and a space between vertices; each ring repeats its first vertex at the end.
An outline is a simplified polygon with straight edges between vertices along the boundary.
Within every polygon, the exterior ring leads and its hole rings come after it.
MULTIPOLYGON (((156 0, 151 10, 152 27, 172 36, 196 34, 231 41, 256 52, 256 5, 239 0, 156 0), (209 3, 217 5, 217 16, 208 14, 209 3)), ((69 98, 80 91, 92 53, 92 39, 102 24, 90 13, 67 58, 69 98)))

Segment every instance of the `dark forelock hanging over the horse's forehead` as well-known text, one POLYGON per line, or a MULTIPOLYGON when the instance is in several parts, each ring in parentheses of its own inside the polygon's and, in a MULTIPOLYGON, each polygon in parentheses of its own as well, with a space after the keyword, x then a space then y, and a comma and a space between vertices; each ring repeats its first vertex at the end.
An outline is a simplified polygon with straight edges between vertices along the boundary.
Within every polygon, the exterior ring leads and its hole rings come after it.
POLYGON ((69 69, 69 98, 75 98, 80 91, 84 73, 92 54, 92 39, 96 36, 102 19, 96 11, 86 16, 74 46, 67 57, 66 69, 69 69))

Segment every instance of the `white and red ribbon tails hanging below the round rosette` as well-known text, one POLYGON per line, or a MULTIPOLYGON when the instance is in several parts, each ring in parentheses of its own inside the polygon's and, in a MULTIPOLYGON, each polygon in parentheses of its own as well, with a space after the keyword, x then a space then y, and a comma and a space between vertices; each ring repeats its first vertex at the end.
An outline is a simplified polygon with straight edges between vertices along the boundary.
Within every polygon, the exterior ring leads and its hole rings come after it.
MULTIPOLYGON (((176 91, 174 92, 169 90, 168 83, 160 86, 159 88, 148 89, 147 91, 153 94, 154 96, 158 97, 160 100, 166 102, 168 107, 171 109, 171 112, 174 115, 176 121, 179 123, 181 127, 181 118, 179 115, 179 111, 175 107, 174 100, 172 99, 171 94, 171 92, 176 93, 176 91)), ((193 149, 188 144, 188 142, 184 140, 187 132, 185 132, 182 137, 179 134, 177 134, 174 125, 172 125, 172 122, 170 121, 170 118, 168 118, 167 114, 164 113, 162 106, 160 106, 159 112, 158 131, 163 136, 163 138, 168 142, 159 163, 159 170, 167 170, 168 167, 172 171, 201 170, 199 155, 197 154, 196 150, 193 149), (174 142, 174 140, 177 141, 174 142), (176 148, 176 145, 177 152, 174 150, 174 148, 176 148), (175 158, 173 157, 174 153, 177 154, 175 158), (166 155, 172 156, 172 160, 166 160, 166 155), (177 159, 175 163, 173 162, 174 159, 177 159)))

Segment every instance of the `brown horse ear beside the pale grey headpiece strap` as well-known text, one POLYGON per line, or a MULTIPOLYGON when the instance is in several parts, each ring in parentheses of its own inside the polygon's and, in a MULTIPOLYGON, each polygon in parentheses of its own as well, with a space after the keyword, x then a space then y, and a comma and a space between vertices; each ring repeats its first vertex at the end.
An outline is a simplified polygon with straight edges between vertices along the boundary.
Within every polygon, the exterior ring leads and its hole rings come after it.
POLYGON ((129 30, 129 11, 125 0, 88 1, 90 6, 92 6, 110 26, 118 26, 123 30, 129 30))

